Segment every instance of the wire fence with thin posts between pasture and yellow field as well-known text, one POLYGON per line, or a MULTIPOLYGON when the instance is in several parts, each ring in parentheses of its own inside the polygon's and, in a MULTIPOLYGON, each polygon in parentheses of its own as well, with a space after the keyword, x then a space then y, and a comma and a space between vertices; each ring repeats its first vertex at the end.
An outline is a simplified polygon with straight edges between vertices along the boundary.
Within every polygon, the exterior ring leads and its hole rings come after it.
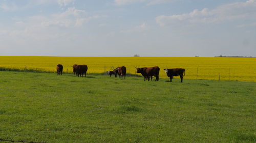
MULTIPOLYGON (((99 67, 98 65, 90 65, 88 67, 88 74, 106 74, 107 71, 115 69, 117 66, 104 65, 99 67), (92 67, 92 68, 90 68, 92 67)), ((160 78, 168 78, 163 67, 160 67, 160 78)), ((25 71, 25 72, 48 72, 56 73, 56 69, 44 69, 37 67, 0 67, 0 71, 25 71)), ((63 73, 73 73, 73 68, 69 66, 63 69, 63 73)), ((126 67, 128 76, 141 76, 136 73, 136 69, 133 66, 126 67)), ((174 77, 180 78, 180 77, 174 77)), ((256 81, 256 71, 240 68, 224 68, 224 67, 188 67, 185 68, 185 79, 209 79, 209 80, 237 80, 237 81, 256 81), (246 71, 246 72, 245 72, 246 71)))

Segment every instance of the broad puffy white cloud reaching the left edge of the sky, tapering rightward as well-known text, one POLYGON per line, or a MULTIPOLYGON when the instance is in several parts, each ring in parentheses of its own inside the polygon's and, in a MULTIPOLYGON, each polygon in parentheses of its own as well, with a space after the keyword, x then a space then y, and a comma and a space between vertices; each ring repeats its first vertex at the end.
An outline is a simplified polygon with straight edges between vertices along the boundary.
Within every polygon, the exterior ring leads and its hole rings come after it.
MULTIPOLYGON (((93 19, 102 18, 105 16, 95 15, 86 16, 86 12, 76 8, 68 8, 65 12, 55 13, 50 16, 31 16, 26 19, 13 19, 15 22, 5 30, 0 29, 2 38, 10 39, 51 39, 56 36, 66 35, 69 37, 69 32, 72 33, 72 28, 81 27, 93 19), (70 30, 61 30, 62 28, 70 28, 70 30)), ((21 40, 22 41, 22 40, 21 40)))

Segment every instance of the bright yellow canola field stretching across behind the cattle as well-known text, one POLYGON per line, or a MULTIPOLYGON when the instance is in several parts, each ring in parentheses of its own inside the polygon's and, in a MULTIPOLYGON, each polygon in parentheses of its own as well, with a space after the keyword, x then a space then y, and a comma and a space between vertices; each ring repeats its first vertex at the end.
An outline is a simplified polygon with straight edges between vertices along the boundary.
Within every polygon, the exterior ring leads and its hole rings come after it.
POLYGON ((88 65, 88 74, 118 66, 135 74, 135 67, 159 66, 160 78, 168 78, 165 68, 184 68, 185 79, 256 81, 256 58, 0 56, 0 68, 56 72, 57 64, 69 73, 74 64, 88 65))

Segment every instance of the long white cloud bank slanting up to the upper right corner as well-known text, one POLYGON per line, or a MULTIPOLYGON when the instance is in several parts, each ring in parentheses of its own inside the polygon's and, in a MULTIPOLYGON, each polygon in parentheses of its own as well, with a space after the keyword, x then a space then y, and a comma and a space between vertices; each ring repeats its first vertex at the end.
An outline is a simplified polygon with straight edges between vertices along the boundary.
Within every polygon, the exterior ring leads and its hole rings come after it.
POLYGON ((256 19, 256 0, 222 5, 213 10, 194 10, 190 13, 156 17, 160 26, 177 23, 219 23, 239 19, 256 19))

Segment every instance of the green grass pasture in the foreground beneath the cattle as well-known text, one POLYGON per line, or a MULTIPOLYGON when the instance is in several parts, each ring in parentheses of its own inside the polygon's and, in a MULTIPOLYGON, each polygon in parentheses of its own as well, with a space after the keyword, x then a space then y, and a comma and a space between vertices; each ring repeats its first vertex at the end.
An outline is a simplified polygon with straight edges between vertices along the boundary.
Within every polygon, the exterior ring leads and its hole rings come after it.
POLYGON ((0 71, 0 138, 254 143, 255 99, 256 82, 0 71))

